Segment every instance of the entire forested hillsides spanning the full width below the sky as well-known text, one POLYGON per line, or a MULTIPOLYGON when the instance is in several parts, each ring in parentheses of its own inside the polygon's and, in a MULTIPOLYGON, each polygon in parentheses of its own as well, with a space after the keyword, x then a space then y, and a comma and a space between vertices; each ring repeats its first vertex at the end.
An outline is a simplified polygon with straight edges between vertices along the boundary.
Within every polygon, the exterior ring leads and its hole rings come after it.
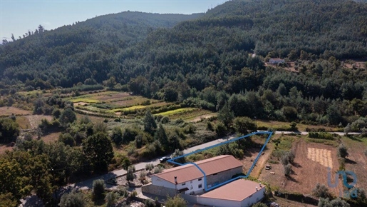
MULTIPOLYGON (((0 46, 1 94, 104 82, 215 111, 233 94, 262 96, 262 90, 274 92, 284 84, 280 95, 294 89, 303 102, 294 108, 306 113, 312 112, 311 103, 305 104, 309 99, 328 100, 326 105, 367 99, 366 71, 345 70, 338 61, 367 56, 365 3, 227 1, 205 15, 120 15, 123 20, 100 16, 0 46), (190 20, 170 27, 185 18, 190 20), (265 69, 259 56, 249 57, 252 52, 296 61, 299 75, 265 69)), ((236 115, 268 116, 263 112, 294 104, 265 101, 265 109, 259 100, 249 102, 254 108, 236 115)), ((317 113, 322 118, 326 108, 317 113)))

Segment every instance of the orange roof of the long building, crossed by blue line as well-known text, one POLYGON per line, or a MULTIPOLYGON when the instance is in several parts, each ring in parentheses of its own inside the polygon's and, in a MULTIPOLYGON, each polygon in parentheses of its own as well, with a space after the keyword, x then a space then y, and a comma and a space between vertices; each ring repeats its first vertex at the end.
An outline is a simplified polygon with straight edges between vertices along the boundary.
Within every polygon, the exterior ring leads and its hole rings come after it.
MULTIPOLYGON (((240 161, 230 155, 216 156, 195 163, 207 176, 242 166, 240 161)), ((175 176, 177 176, 177 183, 184 183, 204 177, 202 172, 193 164, 170 168, 162 171, 162 173, 155 174, 155 176, 169 181, 170 183, 175 183, 175 176)))

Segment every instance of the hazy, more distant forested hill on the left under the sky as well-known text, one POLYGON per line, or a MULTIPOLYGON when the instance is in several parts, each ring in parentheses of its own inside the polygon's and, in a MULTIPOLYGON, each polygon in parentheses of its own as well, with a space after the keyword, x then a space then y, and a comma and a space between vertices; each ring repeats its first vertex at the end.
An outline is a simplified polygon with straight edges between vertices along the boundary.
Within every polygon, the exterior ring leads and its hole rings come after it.
POLYGON ((130 46, 157 28, 171 28, 202 15, 126 11, 51 31, 40 25, 23 37, 13 37, 14 42, 0 45, 0 74, 24 83, 34 79, 48 81, 46 85, 38 81, 36 85, 41 88, 73 86, 88 78, 100 83, 107 78, 110 67, 118 67, 111 60, 120 51, 133 52, 130 46))

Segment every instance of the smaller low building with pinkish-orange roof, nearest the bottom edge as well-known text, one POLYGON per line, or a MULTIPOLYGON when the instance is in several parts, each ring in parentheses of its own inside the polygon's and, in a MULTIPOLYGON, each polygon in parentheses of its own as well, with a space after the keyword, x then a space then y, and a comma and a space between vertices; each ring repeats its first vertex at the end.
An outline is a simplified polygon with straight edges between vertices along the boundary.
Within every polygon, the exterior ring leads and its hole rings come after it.
POLYGON ((265 186, 239 179, 197 196, 197 203, 215 207, 247 207, 264 198, 265 186))

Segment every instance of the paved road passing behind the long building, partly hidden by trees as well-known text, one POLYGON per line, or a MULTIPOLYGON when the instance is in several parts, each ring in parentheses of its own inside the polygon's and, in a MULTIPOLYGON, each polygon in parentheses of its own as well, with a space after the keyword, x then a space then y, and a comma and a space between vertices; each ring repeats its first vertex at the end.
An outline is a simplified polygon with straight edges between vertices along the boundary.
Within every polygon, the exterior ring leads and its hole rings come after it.
MULTIPOLYGON (((276 134, 280 134, 280 133, 284 133, 284 134, 298 133, 298 134, 301 134, 301 135, 307 135, 307 134, 309 134, 306 131, 298 131, 298 132, 276 131, 276 134)), ((345 133, 343 133, 343 132, 333 132, 333 133, 336 133, 336 134, 338 134, 340 136, 344 136, 345 135, 345 133)), ((359 134, 359 133, 349 133, 349 134, 359 134)), ((235 138, 235 137, 236 137, 235 135, 231 135, 231 136, 227 136, 227 137, 224 137, 224 138, 219 138, 219 139, 214 140, 214 141, 210 141, 210 142, 207 142, 207 143, 200 144, 198 146, 193 146, 191 148, 187 148, 183 152, 184 153, 190 153, 192 151, 197 151, 198 149, 206 148, 208 146, 213 146, 214 144, 221 143, 223 141, 227 141, 227 139, 231 139, 231 138, 235 138)), ((170 155, 167 155, 167 156, 170 156, 170 155)), ((147 162, 138 163, 138 164, 135 164, 135 169, 137 171, 138 170, 141 170, 141 169, 144 169, 145 168, 145 165, 148 164, 148 163, 153 163, 153 165, 156 166, 158 163, 160 163, 160 161, 159 161, 158 158, 155 158, 155 159, 150 160, 150 161, 147 161, 147 162)), ((91 179, 88 179, 86 181, 81 181, 79 183, 76 183, 75 184, 75 187, 82 188, 82 189, 92 188, 93 181, 96 180, 96 179, 103 179, 104 181, 108 181, 108 179, 110 179, 110 178, 115 178, 115 177, 118 177, 118 176, 123 176, 125 173, 126 173, 126 171, 124 169, 115 170, 115 171, 109 172, 107 174, 104 174, 104 175, 101 175, 101 176, 96 176, 96 177, 91 178, 91 179)), ((113 186, 107 184, 107 187, 110 188, 110 187, 113 187, 113 186)))

